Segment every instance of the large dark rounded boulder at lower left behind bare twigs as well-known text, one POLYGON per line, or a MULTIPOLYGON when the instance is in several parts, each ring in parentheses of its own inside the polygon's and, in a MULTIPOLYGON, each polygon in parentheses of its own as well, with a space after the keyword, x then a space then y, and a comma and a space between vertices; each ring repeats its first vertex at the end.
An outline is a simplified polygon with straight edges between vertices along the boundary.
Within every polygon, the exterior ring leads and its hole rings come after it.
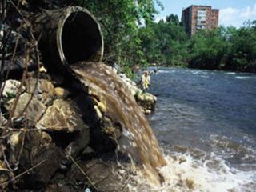
POLYGON ((25 180, 21 179, 21 182, 34 181, 45 185, 61 165, 62 150, 55 146, 49 134, 41 130, 30 131, 26 134, 24 132, 14 132, 10 135, 8 143, 11 150, 10 161, 18 160, 19 162, 18 172, 34 167, 24 175, 25 180))

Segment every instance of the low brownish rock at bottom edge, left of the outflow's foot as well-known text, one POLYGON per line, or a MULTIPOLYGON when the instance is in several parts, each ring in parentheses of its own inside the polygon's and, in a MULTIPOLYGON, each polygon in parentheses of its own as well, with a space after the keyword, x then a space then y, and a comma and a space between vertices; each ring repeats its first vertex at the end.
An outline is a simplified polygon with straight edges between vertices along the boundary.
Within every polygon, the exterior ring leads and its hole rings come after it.
POLYGON ((134 170, 129 163, 120 164, 114 162, 113 159, 108 162, 92 159, 77 163, 85 171, 86 177, 78 166, 73 165, 66 174, 68 181, 85 182, 89 186, 92 182, 97 191, 150 191, 150 186, 146 182, 139 182, 138 178, 134 177, 134 170), (90 178, 90 181, 86 178, 90 178))

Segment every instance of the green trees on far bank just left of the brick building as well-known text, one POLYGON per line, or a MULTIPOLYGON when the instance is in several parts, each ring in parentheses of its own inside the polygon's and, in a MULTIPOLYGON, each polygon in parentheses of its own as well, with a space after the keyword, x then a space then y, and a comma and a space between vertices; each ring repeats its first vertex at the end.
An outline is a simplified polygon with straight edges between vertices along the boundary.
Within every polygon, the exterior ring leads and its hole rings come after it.
POLYGON ((151 23, 139 32, 147 62, 164 66, 186 66, 187 35, 179 26, 178 16, 167 16, 166 22, 151 23))

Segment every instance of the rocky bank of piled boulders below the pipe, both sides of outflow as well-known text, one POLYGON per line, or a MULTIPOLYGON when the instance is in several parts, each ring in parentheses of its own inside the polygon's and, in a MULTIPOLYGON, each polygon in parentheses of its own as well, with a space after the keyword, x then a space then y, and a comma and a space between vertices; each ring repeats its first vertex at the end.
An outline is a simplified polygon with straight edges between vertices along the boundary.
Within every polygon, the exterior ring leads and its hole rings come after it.
MULTIPOLYGON (((126 155, 115 155, 112 134, 118 134, 118 128, 106 116, 106 105, 96 94, 86 95, 41 71, 4 83, 1 129, 7 130, 7 139, 0 154, 2 191, 129 190, 136 183, 129 176, 134 170, 126 155)), ((150 114, 157 98, 119 75, 143 112, 150 114)))

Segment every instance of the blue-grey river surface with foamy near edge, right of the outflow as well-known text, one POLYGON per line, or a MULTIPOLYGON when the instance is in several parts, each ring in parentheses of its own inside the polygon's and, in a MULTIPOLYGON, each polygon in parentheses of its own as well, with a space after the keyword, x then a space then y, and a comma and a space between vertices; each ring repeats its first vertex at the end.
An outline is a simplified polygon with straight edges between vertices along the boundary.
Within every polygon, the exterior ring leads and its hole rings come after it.
POLYGON ((256 191, 256 74, 158 68, 150 92, 170 191, 256 191))

